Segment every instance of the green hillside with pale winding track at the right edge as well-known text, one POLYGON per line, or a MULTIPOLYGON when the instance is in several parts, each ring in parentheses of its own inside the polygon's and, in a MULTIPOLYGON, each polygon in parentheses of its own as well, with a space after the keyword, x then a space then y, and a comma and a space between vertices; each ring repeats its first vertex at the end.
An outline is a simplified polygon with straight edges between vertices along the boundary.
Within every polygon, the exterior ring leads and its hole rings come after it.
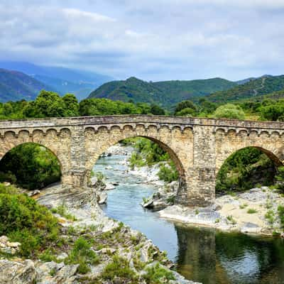
POLYGON ((206 98, 211 102, 224 104, 226 102, 238 101, 240 99, 251 99, 263 94, 270 94, 284 89, 284 75, 265 75, 245 84, 239 84, 225 91, 214 92, 206 98))

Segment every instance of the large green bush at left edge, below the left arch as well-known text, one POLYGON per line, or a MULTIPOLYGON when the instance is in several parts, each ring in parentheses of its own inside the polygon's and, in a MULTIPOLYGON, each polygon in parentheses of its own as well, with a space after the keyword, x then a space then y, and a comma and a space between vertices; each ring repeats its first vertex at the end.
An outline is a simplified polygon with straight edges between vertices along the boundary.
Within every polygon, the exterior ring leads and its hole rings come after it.
POLYGON ((59 239, 58 220, 46 207, 2 184, 0 219, 0 235, 21 243, 21 256, 33 257, 59 239))

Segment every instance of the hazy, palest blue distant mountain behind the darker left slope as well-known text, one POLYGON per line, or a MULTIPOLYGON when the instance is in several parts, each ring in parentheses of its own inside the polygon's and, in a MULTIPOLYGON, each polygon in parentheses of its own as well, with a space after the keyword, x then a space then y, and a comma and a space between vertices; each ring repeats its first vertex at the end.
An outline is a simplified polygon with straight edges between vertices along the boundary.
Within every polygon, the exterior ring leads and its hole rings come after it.
POLYGON ((64 67, 40 66, 29 62, 0 61, 0 68, 16 70, 47 84, 60 94, 72 93, 78 99, 87 97, 92 89, 113 80, 95 72, 73 70, 64 67))

